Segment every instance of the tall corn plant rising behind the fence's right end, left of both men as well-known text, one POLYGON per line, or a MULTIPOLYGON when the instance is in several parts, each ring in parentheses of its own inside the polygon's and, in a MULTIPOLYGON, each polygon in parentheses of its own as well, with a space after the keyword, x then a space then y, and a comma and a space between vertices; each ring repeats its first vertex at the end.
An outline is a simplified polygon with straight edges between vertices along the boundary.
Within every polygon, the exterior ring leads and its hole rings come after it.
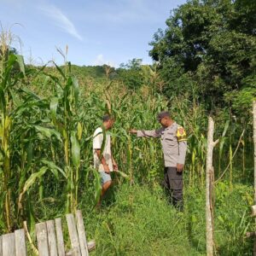
MULTIPOLYGON (((55 63, 54 63, 55 64, 55 63)), ((49 75, 52 83, 52 96, 49 97, 49 119, 52 129, 61 135, 62 154, 57 152, 58 145, 53 145, 53 154, 62 158, 65 177, 67 177, 67 212, 74 211, 78 204, 79 171, 80 171, 80 141, 83 125, 79 116, 79 83, 68 74, 70 69, 65 66, 65 72, 55 65, 59 76, 49 75)), ((59 159, 60 161, 60 159, 59 159)))

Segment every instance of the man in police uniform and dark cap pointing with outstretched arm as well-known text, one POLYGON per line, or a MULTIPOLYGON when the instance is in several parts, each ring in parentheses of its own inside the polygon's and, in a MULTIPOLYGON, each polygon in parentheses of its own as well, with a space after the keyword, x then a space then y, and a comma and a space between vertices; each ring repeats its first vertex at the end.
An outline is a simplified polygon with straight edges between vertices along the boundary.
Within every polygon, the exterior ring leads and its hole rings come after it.
POLYGON ((165 160, 164 186, 171 193, 172 204, 183 208, 183 166, 187 151, 187 137, 181 125, 171 119, 167 111, 157 115, 162 127, 154 131, 130 132, 137 134, 137 137, 160 137, 165 160))

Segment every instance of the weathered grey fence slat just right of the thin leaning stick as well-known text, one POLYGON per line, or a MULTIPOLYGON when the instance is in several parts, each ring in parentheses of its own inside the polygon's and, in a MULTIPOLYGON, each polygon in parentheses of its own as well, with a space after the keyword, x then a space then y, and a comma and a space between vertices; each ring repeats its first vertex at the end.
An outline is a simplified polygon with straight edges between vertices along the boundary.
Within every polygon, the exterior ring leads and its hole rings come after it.
POLYGON ((36 224, 39 256, 49 256, 47 228, 45 222, 36 224))

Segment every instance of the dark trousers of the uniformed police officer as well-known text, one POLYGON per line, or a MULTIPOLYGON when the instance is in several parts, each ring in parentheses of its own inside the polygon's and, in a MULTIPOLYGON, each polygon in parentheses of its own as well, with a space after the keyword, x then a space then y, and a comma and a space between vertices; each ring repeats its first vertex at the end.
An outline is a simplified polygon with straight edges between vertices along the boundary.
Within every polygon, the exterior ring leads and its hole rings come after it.
POLYGON ((164 187, 170 192, 172 204, 183 208, 183 172, 176 167, 165 167, 164 187))

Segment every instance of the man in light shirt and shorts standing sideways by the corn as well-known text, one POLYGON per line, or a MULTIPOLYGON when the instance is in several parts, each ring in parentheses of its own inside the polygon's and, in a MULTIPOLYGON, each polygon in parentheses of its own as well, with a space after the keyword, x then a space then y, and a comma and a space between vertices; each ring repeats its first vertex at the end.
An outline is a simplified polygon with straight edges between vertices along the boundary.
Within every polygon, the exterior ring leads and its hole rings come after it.
POLYGON ((102 178, 102 193, 98 206, 101 205, 103 196, 112 185, 110 172, 118 170, 118 166, 113 159, 111 137, 108 133, 108 130, 113 126, 114 119, 107 114, 103 116, 102 122, 102 127, 98 127, 93 135, 94 167, 98 170, 102 178))

